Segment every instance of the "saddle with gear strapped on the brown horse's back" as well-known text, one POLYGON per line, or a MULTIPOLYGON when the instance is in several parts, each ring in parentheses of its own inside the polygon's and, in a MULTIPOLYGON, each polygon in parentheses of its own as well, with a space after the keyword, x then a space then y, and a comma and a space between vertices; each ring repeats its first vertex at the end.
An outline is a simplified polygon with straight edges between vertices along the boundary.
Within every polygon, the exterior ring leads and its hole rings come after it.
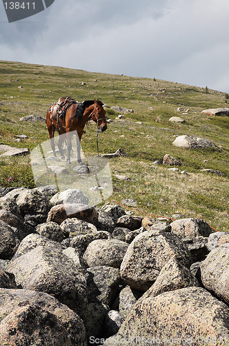
POLYGON ((65 118, 66 111, 68 107, 70 107, 72 104, 77 103, 74 98, 71 98, 70 96, 64 98, 59 98, 58 102, 55 102, 50 107, 49 111, 52 114, 51 120, 53 123, 56 123, 56 127, 61 127, 60 118, 65 118))

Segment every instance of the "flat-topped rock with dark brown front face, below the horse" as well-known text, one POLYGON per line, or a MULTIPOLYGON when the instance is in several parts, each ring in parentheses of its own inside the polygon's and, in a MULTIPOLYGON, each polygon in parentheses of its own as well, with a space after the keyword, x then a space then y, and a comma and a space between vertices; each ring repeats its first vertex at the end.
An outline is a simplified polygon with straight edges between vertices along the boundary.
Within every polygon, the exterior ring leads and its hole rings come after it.
POLYGON ((48 212, 47 222, 53 221, 60 225, 65 219, 72 219, 72 217, 94 224, 97 221, 98 213, 94 207, 84 204, 58 204, 48 212))

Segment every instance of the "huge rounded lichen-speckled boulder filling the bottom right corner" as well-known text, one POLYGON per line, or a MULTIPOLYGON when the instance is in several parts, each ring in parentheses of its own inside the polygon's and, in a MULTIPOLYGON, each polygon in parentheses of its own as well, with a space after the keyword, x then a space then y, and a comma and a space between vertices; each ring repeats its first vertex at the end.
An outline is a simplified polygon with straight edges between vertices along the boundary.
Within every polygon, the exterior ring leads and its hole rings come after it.
POLYGON ((188 287, 140 300, 130 311, 116 336, 104 345, 226 345, 229 309, 201 287, 188 287), (208 341, 207 341, 208 340, 208 341))

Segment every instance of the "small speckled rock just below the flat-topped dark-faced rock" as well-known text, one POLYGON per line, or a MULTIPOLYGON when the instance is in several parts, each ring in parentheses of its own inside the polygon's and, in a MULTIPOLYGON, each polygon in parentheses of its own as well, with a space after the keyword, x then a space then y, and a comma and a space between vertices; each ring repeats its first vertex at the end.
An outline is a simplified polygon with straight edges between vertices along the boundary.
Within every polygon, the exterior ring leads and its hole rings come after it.
POLYGON ((76 237, 77 235, 86 235, 90 233, 97 233, 97 228, 87 221, 72 217, 72 219, 66 219, 61 223, 61 229, 65 233, 69 233, 70 237, 76 237))

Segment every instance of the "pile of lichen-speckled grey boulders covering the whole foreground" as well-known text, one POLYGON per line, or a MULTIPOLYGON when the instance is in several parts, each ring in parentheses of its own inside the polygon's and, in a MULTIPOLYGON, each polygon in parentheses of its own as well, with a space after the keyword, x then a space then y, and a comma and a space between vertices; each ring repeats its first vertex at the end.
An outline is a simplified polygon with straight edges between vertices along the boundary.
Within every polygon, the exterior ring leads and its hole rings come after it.
POLYGON ((0 189, 1 345, 228 345, 229 233, 0 189))

